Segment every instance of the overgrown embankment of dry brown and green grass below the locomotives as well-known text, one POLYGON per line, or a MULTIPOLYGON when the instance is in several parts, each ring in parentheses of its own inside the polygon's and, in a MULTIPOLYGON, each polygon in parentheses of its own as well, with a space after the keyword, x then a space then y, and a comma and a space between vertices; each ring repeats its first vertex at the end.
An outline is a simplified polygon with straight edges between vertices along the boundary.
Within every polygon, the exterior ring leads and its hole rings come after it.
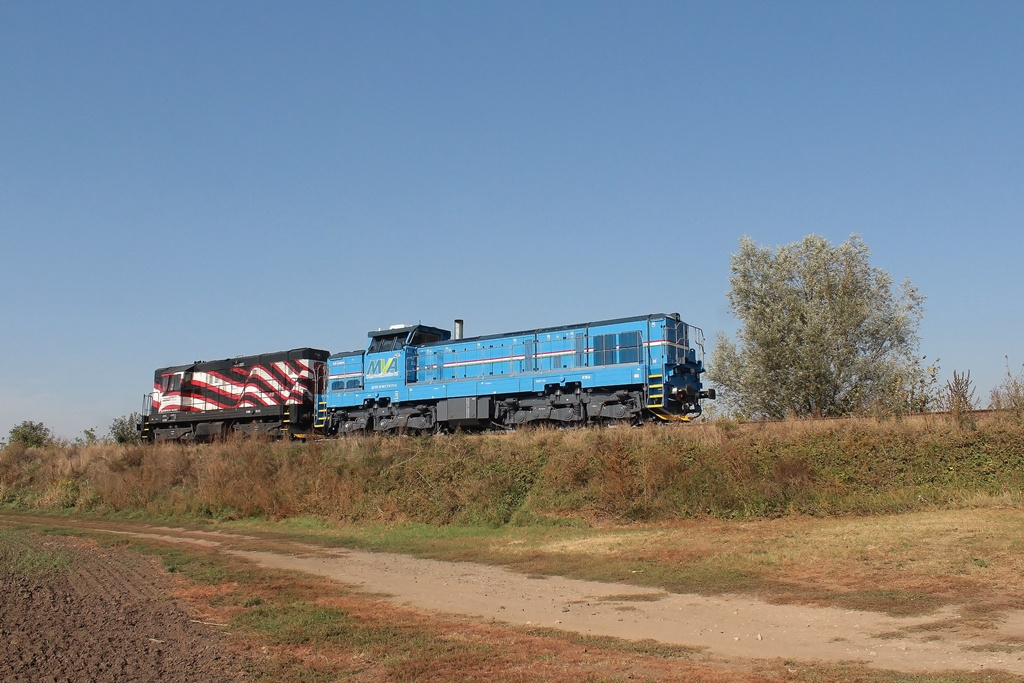
POLYGON ((0 452, 0 503, 212 518, 535 525, 905 512, 1019 497, 1024 424, 943 416, 309 444, 0 452))

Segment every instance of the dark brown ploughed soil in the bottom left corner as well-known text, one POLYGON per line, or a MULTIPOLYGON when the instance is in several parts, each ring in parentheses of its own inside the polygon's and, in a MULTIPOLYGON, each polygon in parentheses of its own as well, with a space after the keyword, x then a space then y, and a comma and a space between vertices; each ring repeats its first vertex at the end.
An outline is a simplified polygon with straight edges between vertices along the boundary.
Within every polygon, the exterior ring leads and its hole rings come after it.
POLYGON ((253 680, 217 627, 168 597, 176 582, 147 558, 72 538, 17 541, 7 550, 57 554, 67 566, 0 562, 0 680, 253 680))

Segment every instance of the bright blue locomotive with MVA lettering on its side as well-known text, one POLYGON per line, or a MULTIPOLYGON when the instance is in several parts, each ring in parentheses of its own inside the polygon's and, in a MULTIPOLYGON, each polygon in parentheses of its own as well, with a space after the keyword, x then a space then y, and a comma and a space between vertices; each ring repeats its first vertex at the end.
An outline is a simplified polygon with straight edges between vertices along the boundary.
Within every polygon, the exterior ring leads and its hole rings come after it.
POLYGON ((327 360, 327 435, 644 420, 700 413, 703 335, 678 313, 463 338, 425 325, 370 333, 327 360))

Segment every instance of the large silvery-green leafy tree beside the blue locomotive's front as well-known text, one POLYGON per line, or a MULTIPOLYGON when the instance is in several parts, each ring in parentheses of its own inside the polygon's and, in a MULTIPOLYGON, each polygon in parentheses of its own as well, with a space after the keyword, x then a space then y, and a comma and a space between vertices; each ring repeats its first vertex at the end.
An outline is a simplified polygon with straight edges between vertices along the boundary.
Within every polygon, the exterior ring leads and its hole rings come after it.
POLYGON ((856 234, 810 234, 772 251, 739 241, 729 307, 738 344, 719 333, 708 376, 734 413, 784 418, 927 410, 936 368, 921 366, 925 297, 868 263, 856 234))

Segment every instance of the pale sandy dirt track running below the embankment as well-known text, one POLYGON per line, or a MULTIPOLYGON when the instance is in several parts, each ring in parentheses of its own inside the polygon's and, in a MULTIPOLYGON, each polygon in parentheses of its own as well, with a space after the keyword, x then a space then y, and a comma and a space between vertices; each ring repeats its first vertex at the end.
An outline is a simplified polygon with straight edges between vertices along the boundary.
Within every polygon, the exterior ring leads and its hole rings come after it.
MULTIPOLYGON (((1007 609, 979 626, 949 604, 928 614, 806 604, 772 604, 736 595, 670 593, 650 586, 527 575, 470 562, 338 550, 291 540, 96 520, 0 516, 0 523, 75 526, 175 544, 201 544, 260 567, 297 570, 445 618, 472 617, 587 636, 650 640, 733 665, 751 660, 856 661, 903 672, 999 671, 1024 676, 1024 611, 1007 609), (1016 644, 1015 644, 1016 643, 1016 644)), ((84 574, 131 594, 115 577, 84 574)), ((130 582, 129 582, 130 583, 130 582)), ((139 595, 136 597, 145 597, 139 595)))

